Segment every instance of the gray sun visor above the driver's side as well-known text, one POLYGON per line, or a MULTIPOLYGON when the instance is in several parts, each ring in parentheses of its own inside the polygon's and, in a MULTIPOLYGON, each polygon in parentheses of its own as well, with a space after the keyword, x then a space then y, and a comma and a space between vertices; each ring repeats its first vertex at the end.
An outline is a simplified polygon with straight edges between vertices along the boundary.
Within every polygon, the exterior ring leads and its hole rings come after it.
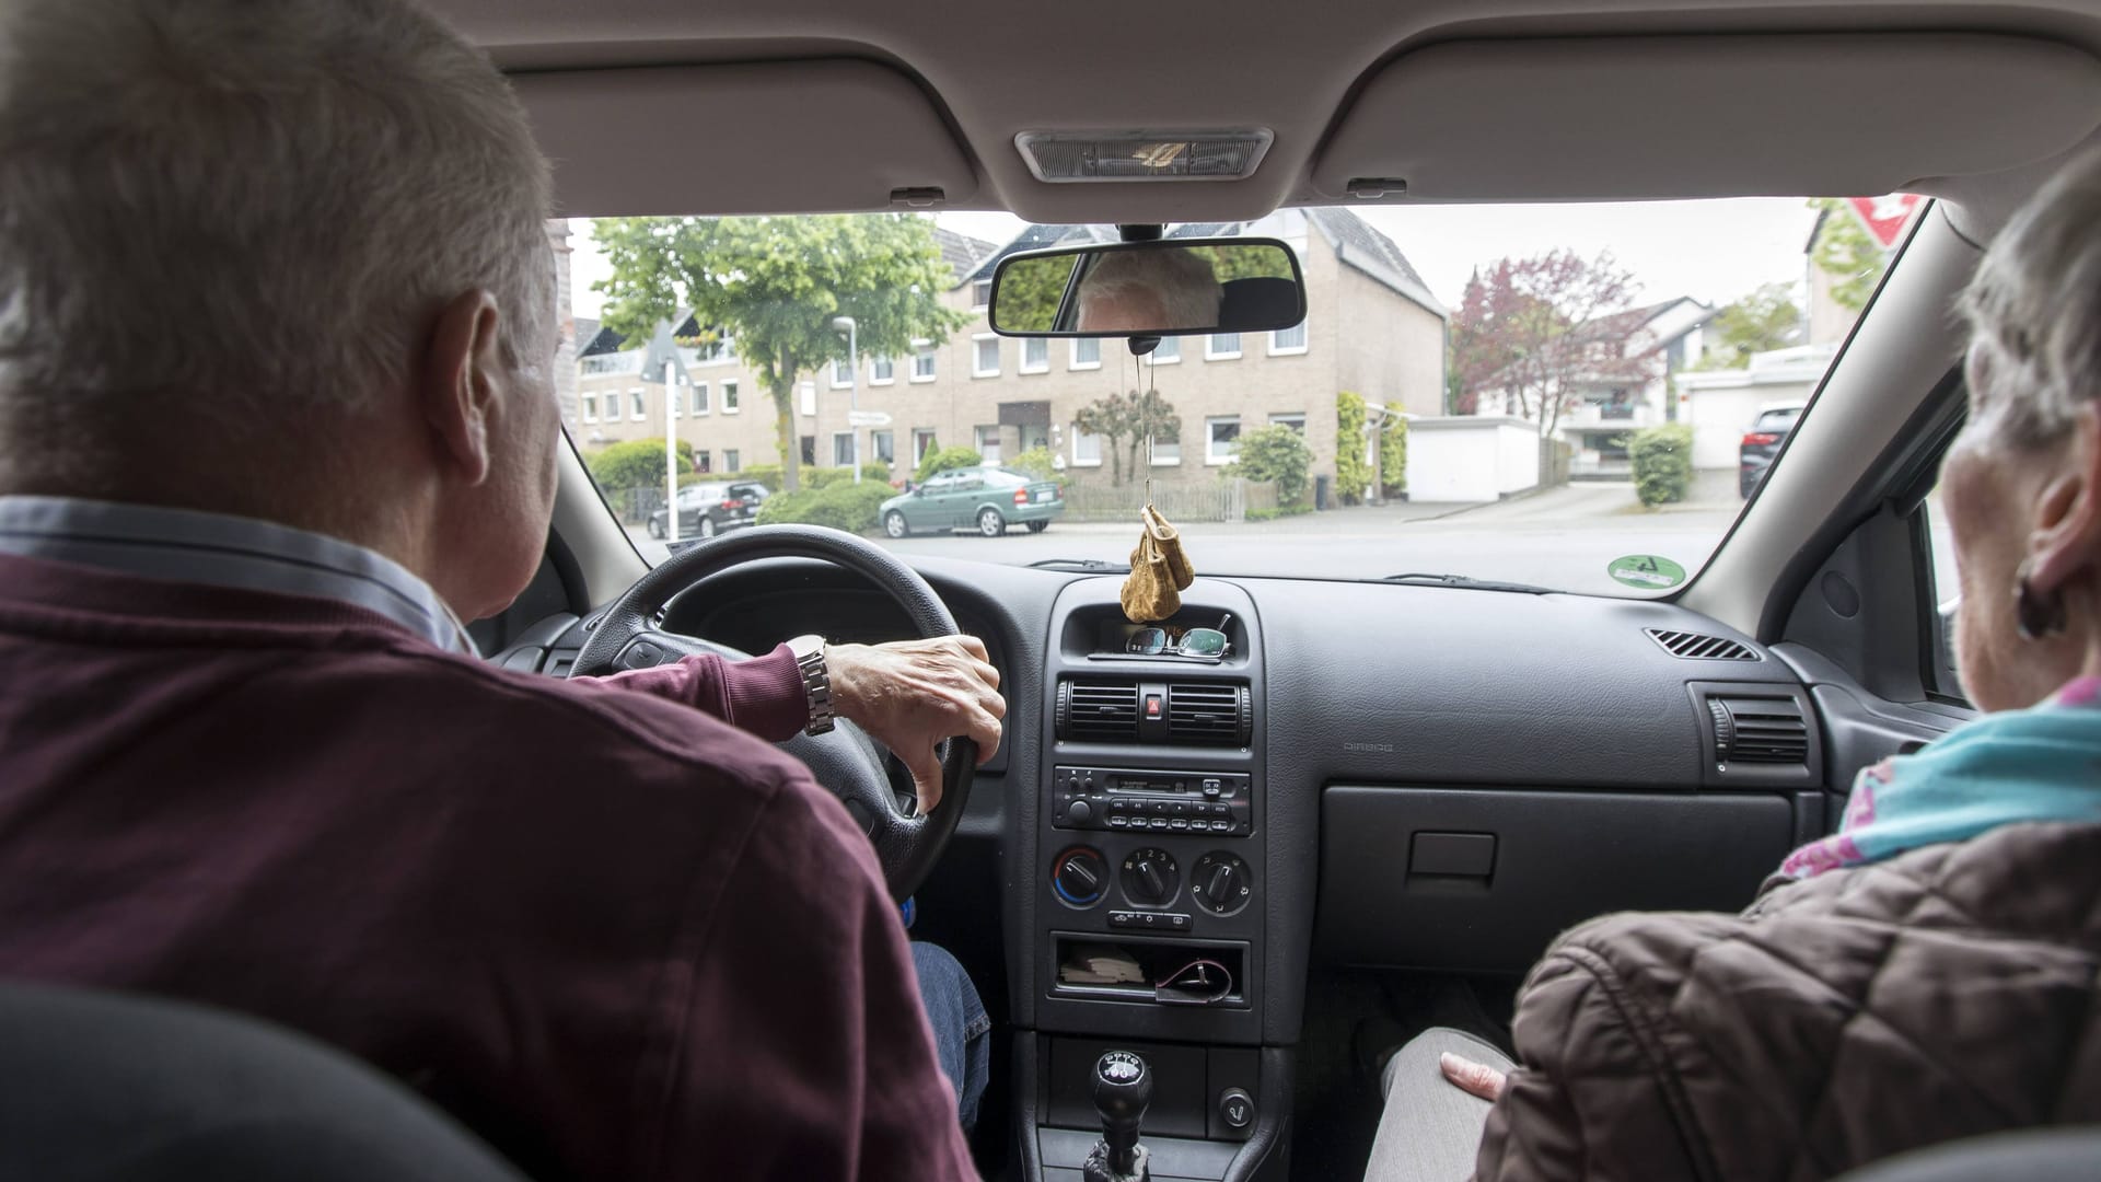
POLYGON ((977 175, 912 78, 874 61, 515 74, 563 215, 941 208, 977 175))

